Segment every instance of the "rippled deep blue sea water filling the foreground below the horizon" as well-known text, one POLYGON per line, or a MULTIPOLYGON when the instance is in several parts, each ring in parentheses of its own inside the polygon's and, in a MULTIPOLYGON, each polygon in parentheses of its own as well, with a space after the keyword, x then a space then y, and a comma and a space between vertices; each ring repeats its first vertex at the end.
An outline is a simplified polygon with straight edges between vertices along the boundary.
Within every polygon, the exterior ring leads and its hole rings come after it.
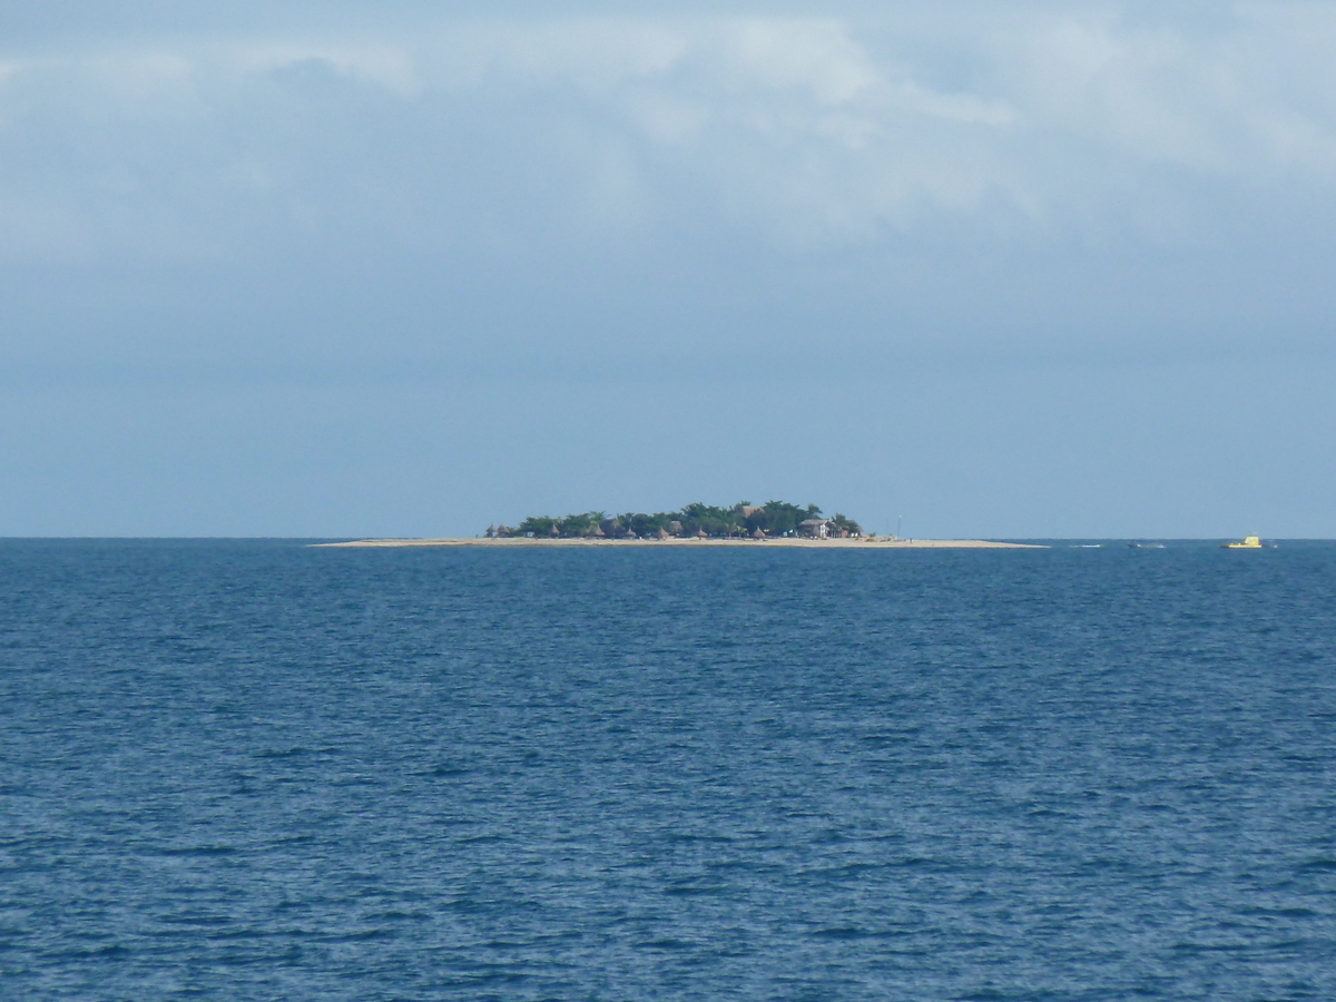
POLYGON ((0 542, 0 998, 1332 999, 1333 641, 1329 544, 0 542))

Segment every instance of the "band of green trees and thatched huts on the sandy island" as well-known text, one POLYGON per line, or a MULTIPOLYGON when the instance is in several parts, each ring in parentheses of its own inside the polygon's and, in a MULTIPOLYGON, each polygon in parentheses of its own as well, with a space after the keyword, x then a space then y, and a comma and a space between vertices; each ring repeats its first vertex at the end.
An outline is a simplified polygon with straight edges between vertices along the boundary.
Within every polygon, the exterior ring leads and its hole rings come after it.
POLYGON ((564 518, 530 516, 510 528, 489 526, 488 537, 537 538, 762 538, 776 536, 814 536, 819 538, 862 536, 858 522, 844 514, 830 518, 816 505, 800 508, 787 501, 754 505, 740 501, 732 508, 705 504, 684 505, 676 512, 580 512, 564 518))

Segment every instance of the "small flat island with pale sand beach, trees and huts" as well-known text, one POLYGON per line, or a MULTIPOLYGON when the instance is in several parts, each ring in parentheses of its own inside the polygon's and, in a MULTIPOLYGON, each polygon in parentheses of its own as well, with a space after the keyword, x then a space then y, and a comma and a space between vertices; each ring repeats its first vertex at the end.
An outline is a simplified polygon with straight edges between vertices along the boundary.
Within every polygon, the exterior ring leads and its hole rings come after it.
POLYGON ((514 526, 489 525, 466 538, 350 540, 318 546, 858 546, 858 548, 999 548, 1043 549, 990 540, 902 540, 867 534, 856 521, 818 505, 739 501, 731 508, 684 505, 676 512, 580 512, 565 517, 529 516, 514 526))

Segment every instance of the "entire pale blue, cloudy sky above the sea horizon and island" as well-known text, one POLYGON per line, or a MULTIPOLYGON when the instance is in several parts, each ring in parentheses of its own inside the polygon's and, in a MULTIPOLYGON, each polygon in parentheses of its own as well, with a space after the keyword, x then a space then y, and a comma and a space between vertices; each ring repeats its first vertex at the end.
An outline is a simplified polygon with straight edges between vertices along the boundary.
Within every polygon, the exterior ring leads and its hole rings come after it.
POLYGON ((0 4, 0 536, 1336 537, 1336 7, 0 4))

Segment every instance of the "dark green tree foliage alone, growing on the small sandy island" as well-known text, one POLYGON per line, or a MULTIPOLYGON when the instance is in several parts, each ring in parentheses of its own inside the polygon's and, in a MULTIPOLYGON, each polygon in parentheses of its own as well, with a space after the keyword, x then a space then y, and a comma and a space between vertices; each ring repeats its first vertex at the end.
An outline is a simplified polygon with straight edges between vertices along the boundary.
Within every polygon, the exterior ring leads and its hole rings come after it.
MULTIPOLYGON (((615 522, 613 525, 607 525, 609 518, 605 512, 582 512, 568 514, 565 518, 534 516, 525 518, 514 529, 506 529, 504 534, 580 538, 597 534, 600 522, 604 522, 605 528, 611 529, 607 532, 608 536, 624 537, 628 533, 635 533, 639 537, 645 537, 657 534, 660 529, 673 532, 672 524, 679 522, 683 536, 696 536, 704 530, 712 538, 725 538, 751 536, 758 529, 767 536, 784 536, 795 532, 799 522, 822 517, 822 509, 816 505, 799 508, 787 501, 767 501, 744 517, 743 509, 748 508, 752 505, 747 501, 739 501, 732 508, 716 508, 697 501, 684 505, 679 512, 655 512, 653 514, 623 512, 611 520, 615 522)), ((862 532, 858 522, 843 514, 836 514, 831 522, 836 529, 844 529, 852 536, 862 532)))

